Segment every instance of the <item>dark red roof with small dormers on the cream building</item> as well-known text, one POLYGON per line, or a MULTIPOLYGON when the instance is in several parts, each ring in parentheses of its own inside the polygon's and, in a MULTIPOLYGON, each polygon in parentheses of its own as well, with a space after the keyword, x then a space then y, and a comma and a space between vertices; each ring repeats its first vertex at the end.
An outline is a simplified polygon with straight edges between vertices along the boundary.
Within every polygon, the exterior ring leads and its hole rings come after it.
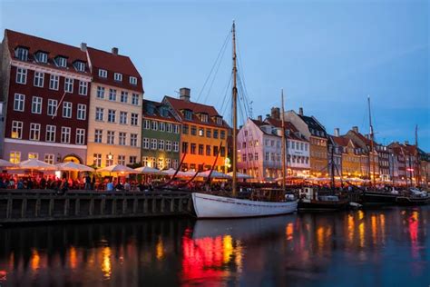
POLYGON ((134 64, 132 64, 130 57, 122 54, 112 54, 92 47, 88 47, 87 51, 93 67, 94 82, 143 93, 142 76, 139 74, 134 64), (99 69, 108 71, 107 78, 99 77, 99 69), (113 73, 122 74, 122 82, 115 81, 113 79, 113 73), (129 76, 136 77, 137 84, 130 84, 129 76))

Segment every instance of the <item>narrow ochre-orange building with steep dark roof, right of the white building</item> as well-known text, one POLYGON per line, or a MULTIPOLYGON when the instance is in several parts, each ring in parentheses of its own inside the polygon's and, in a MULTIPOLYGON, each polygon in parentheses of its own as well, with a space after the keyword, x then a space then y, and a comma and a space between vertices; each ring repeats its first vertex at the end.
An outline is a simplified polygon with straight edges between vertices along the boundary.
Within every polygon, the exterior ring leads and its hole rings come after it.
POLYGON ((310 174, 318 177, 328 176, 327 132, 324 125, 314 116, 304 115, 303 108, 299 108, 298 114, 288 111, 284 116, 309 141, 310 174))

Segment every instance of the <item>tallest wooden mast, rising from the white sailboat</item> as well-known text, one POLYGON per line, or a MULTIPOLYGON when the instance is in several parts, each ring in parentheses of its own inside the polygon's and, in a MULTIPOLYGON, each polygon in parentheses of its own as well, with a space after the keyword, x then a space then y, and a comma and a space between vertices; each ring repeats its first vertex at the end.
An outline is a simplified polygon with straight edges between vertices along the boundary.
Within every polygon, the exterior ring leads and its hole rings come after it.
POLYGON ((233 27, 231 29, 232 37, 233 37, 233 90, 232 90, 232 102, 233 102, 233 183, 231 186, 231 191, 233 196, 237 196, 237 174, 236 174, 236 168, 237 168, 237 161, 238 161, 238 141, 237 141, 237 130, 238 130, 238 87, 237 87, 237 74, 238 74, 238 68, 236 66, 236 30, 235 30, 235 23, 233 21, 233 27))

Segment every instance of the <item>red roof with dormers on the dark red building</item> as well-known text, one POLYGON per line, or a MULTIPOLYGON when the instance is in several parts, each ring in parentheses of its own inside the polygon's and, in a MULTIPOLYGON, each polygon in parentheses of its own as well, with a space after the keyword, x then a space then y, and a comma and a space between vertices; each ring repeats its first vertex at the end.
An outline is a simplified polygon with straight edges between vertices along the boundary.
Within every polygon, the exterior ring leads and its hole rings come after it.
MULTIPOLYGON (((83 63, 88 62, 86 53, 78 47, 65 45, 44 38, 36 37, 34 35, 26 35, 24 33, 12 31, 9 29, 5 29, 5 38, 7 39, 9 52, 13 58, 15 57, 15 49, 17 47, 25 47, 28 49, 29 62, 49 66, 50 68, 57 70, 68 70, 67 72, 71 73, 89 74, 88 64, 86 64, 85 72, 79 72, 71 66, 75 61, 81 61, 83 63), (48 54, 48 62, 46 64, 37 63, 35 61, 34 54, 39 51, 43 51, 48 54), (67 68, 58 67, 56 64, 54 64, 54 58, 58 55, 62 55, 67 58, 67 68)), ((16 60, 20 61, 18 59, 16 60)))

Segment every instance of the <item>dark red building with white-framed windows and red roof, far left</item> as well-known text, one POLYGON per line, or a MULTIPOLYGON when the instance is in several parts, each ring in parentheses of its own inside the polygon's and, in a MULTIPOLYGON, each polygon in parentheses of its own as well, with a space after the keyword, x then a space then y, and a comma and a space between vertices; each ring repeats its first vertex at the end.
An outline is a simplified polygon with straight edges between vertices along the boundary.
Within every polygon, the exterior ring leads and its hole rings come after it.
POLYGON ((3 158, 85 163, 90 66, 85 51, 5 30, 3 158))

